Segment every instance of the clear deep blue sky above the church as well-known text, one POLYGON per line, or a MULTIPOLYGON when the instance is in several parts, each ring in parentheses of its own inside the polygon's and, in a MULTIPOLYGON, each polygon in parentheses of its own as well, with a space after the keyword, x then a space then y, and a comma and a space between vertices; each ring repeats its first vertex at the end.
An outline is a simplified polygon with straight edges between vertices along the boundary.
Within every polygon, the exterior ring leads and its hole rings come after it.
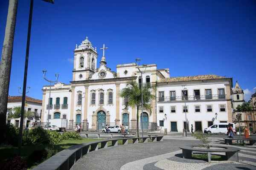
MULTIPOLYGON (((29 0, 19 0, 9 95, 23 86, 29 0)), ((8 0, 0 0, 3 43, 8 0)), ((233 77, 246 100, 256 87, 256 2, 253 0, 35 0, 29 52, 28 96, 42 99, 47 79, 69 84, 73 50, 88 37, 103 43, 107 66, 155 63, 170 77, 216 74, 233 77)), ((99 65, 99 64, 98 64, 99 65)))

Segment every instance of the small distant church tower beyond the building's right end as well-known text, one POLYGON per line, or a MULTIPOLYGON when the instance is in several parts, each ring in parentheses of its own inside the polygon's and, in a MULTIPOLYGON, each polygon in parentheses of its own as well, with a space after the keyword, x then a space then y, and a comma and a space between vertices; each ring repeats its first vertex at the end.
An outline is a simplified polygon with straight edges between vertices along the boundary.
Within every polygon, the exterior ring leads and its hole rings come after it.
POLYGON ((238 105, 242 105, 244 103, 244 91, 240 88, 237 80, 236 85, 232 91, 232 102, 233 109, 236 109, 238 105))

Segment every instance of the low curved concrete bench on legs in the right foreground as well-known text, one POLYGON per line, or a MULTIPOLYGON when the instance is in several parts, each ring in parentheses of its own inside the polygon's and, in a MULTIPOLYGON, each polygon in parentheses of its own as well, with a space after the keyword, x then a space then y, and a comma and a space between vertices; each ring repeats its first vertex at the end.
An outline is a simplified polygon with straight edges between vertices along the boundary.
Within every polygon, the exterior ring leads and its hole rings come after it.
POLYGON ((222 147, 222 146, 212 146, 222 149, 204 149, 199 148, 195 146, 181 146, 180 149, 182 149, 183 158, 186 159, 192 159, 192 152, 207 152, 208 154, 208 162, 211 162, 211 153, 213 152, 224 152, 226 153, 226 158, 228 161, 236 161, 238 162, 238 151, 240 151, 239 148, 236 147, 222 147))

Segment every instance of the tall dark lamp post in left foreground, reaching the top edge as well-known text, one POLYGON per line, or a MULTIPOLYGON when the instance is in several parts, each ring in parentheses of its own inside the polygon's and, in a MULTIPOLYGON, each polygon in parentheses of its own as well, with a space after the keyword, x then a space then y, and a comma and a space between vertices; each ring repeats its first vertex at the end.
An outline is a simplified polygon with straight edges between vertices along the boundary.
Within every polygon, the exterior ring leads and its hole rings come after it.
MULTIPOLYGON (((44 1, 54 3, 54 0, 44 0, 44 1)), ((18 155, 19 156, 21 156, 23 117, 24 117, 24 109, 25 109, 26 81, 27 81, 28 64, 29 64, 29 45, 30 45, 30 33, 31 33, 31 24, 32 24, 33 4, 34 4, 34 0, 30 0, 29 27, 28 27, 27 44, 26 44, 26 59, 25 59, 23 92, 22 92, 21 113, 20 113, 20 132, 19 132, 19 141, 18 141, 18 155)))

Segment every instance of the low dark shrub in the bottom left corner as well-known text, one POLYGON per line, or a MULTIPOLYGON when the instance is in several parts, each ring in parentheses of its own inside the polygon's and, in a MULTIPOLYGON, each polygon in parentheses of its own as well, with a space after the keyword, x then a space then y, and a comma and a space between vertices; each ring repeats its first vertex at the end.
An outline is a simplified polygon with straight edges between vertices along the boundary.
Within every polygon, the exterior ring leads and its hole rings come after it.
POLYGON ((11 159, 7 161, 3 170, 25 170, 26 169, 26 161, 22 159, 20 156, 16 156, 15 159, 11 159))

